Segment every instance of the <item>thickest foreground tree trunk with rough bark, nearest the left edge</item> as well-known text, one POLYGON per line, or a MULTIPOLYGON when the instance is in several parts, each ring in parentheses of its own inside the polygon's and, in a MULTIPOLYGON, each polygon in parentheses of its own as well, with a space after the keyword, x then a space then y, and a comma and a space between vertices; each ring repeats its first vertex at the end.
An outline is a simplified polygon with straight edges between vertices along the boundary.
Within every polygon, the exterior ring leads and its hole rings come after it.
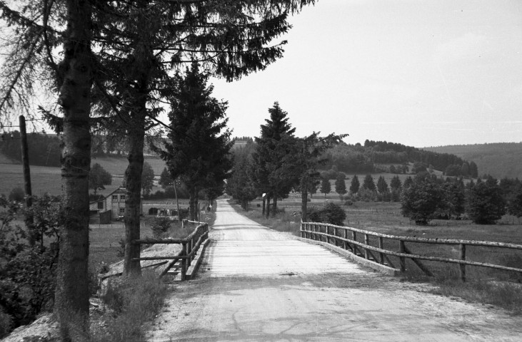
POLYGON ((64 111, 61 188, 64 222, 54 311, 61 341, 89 340, 89 169, 91 167, 91 6, 66 1, 67 31, 59 104, 64 111))

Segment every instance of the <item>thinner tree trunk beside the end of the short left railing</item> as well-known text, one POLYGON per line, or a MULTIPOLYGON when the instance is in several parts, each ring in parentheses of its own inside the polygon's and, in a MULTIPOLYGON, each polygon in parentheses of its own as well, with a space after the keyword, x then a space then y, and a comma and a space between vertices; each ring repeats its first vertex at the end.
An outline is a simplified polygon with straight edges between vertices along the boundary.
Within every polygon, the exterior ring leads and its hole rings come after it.
POLYGON ((145 140, 145 116, 146 100, 136 100, 136 110, 132 113, 128 128, 129 139, 129 165, 125 170, 125 187, 127 196, 125 199, 125 257, 124 276, 139 276, 141 263, 132 260, 140 257, 139 244, 132 244, 132 240, 140 238, 140 214, 141 214, 141 173, 144 166, 144 140, 145 140))

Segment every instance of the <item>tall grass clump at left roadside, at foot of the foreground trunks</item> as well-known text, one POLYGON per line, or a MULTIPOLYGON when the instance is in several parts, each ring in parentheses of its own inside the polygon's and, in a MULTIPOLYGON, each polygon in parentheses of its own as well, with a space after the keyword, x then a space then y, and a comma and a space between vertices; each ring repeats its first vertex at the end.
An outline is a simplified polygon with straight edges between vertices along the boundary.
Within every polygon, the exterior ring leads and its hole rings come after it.
POLYGON ((91 324, 91 341, 146 341, 144 323, 156 316, 168 293, 169 286, 154 271, 110 283, 102 296, 109 310, 91 324))

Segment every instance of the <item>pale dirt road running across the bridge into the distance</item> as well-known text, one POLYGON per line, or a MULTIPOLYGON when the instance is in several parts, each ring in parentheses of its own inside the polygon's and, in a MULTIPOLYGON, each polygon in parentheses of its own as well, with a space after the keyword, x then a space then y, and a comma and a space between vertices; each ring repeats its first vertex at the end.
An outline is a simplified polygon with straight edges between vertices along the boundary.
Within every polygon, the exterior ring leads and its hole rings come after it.
POLYGON ((362 269, 224 201, 211 239, 150 341, 521 341, 519 317, 362 269))

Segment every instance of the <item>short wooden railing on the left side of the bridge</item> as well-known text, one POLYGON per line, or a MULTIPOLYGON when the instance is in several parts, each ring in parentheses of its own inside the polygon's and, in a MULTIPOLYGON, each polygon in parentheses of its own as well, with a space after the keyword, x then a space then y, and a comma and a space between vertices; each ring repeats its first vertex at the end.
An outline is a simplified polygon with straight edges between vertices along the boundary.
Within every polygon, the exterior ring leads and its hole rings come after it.
POLYGON ((181 251, 171 257, 141 257, 133 260, 171 260, 160 276, 164 276, 174 268, 181 273, 181 281, 186 280, 186 271, 196 257, 196 253, 209 237, 209 224, 184 220, 184 224, 194 226, 194 232, 184 239, 139 239, 133 240, 133 244, 181 244, 181 251))

